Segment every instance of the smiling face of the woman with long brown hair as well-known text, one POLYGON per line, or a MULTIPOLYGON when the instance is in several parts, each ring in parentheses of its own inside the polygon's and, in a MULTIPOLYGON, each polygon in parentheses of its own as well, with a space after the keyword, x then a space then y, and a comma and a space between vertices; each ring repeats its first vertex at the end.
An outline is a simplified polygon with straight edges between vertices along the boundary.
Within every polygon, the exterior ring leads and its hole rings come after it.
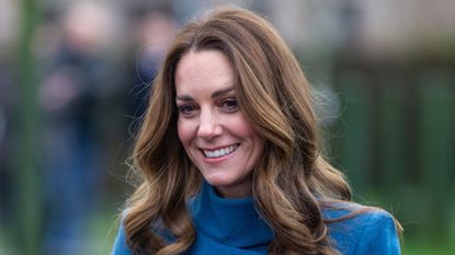
POLYGON ((224 197, 251 194, 264 141, 237 101, 232 67, 217 50, 190 51, 175 70, 178 132, 192 162, 224 197))

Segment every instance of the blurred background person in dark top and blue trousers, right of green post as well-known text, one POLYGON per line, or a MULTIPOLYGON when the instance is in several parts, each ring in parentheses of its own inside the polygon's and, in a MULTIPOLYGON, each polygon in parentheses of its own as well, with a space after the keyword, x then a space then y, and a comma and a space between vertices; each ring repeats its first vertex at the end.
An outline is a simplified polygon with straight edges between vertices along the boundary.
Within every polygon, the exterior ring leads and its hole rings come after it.
POLYGON ((118 82, 106 56, 117 28, 111 19, 105 7, 80 1, 62 12, 60 24, 41 30, 44 34, 37 36, 53 37, 47 43, 56 46, 43 54, 48 66, 42 67, 45 76, 39 86, 45 114, 44 254, 81 254, 87 219, 106 173, 100 129, 116 125, 100 107, 118 82))

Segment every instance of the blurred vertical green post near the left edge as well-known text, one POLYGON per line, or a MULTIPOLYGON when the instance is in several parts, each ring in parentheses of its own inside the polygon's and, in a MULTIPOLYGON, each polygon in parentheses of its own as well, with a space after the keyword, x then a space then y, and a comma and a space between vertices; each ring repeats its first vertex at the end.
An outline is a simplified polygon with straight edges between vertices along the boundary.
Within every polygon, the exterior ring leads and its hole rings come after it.
POLYGON ((11 235, 20 254, 32 255, 41 250, 42 194, 37 159, 37 82, 32 53, 32 37, 37 24, 37 5, 22 0, 22 34, 18 47, 19 76, 15 126, 19 144, 14 148, 14 211, 11 235))

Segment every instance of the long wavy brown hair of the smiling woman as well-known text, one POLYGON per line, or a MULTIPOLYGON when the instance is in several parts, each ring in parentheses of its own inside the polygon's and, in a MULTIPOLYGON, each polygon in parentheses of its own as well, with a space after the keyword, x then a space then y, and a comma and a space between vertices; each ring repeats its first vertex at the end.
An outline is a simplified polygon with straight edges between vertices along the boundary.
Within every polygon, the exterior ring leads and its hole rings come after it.
POLYGON ((268 21, 232 8, 186 24, 168 49, 133 153, 141 184, 124 216, 128 245, 138 254, 180 254, 195 239, 185 202, 202 176, 177 135, 174 72, 183 55, 202 50, 229 58, 240 108, 265 140, 251 185, 257 209, 274 232, 269 253, 338 254, 321 201, 349 201, 351 189, 320 153, 308 81, 268 21), (162 232, 174 240, 167 243, 162 232))

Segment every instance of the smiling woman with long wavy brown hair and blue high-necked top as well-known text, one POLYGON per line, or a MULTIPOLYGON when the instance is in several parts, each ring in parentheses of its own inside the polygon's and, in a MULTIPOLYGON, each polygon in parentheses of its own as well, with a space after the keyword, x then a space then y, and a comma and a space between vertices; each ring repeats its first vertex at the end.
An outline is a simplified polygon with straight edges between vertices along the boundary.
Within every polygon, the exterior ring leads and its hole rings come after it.
POLYGON ((262 18, 221 9, 185 25, 153 84, 113 254, 399 254, 394 218, 351 202, 323 160, 310 101, 262 18))

